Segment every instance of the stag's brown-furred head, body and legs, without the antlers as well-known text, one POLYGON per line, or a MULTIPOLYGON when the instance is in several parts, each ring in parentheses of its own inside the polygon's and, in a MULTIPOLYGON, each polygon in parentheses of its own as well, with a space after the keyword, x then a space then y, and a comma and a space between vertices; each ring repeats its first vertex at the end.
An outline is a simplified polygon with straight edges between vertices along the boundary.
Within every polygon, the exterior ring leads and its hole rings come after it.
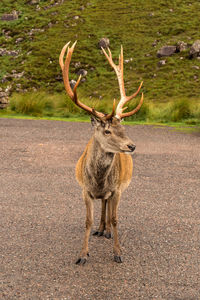
POLYGON ((119 121, 102 123, 95 120, 95 133, 76 165, 76 178, 83 188, 86 204, 86 231, 77 264, 84 264, 87 259, 95 199, 102 201, 100 226, 95 235, 103 235, 106 230, 105 236, 110 238, 112 225, 114 259, 122 262, 117 232, 117 209, 121 193, 128 187, 132 177, 132 157, 125 154, 134 151, 130 151, 130 146, 134 145, 119 121))

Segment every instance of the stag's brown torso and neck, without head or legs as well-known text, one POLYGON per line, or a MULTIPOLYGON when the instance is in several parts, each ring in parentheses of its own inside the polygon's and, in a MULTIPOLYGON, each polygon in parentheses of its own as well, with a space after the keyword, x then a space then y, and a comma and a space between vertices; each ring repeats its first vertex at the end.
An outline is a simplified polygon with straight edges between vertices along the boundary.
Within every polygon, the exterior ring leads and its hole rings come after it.
POLYGON ((123 192, 132 177, 132 157, 109 153, 92 138, 76 165, 76 179, 94 199, 107 199, 116 188, 123 192))

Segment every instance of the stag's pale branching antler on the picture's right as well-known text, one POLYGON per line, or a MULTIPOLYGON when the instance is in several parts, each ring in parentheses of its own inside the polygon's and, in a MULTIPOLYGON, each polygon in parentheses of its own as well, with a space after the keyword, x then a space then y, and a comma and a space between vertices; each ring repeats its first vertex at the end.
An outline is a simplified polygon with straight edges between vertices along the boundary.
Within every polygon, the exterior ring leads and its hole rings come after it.
POLYGON ((139 93, 143 82, 141 82, 138 90, 132 94, 131 96, 126 96, 125 93, 125 88, 124 88, 124 66, 123 66, 123 47, 121 46, 121 54, 119 55, 119 65, 115 65, 112 59, 112 53, 110 51, 110 49, 108 48, 108 53, 109 55, 106 53, 106 51, 104 50, 103 47, 101 47, 103 53, 105 54, 108 62, 110 63, 111 67, 115 70, 115 73, 117 75, 117 79, 118 79, 118 83, 119 83, 119 89, 120 89, 120 95, 121 95, 121 99, 117 105, 117 109, 116 109, 116 115, 115 117, 118 119, 122 119, 125 117, 129 117, 133 114, 135 114, 141 107, 142 103, 143 103, 143 93, 140 99, 139 104, 137 105, 137 107, 135 109, 133 109, 130 112, 127 113, 123 113, 123 111, 125 109, 127 109, 127 107, 123 107, 125 103, 127 103, 128 101, 132 100, 134 97, 137 96, 137 94, 139 93))

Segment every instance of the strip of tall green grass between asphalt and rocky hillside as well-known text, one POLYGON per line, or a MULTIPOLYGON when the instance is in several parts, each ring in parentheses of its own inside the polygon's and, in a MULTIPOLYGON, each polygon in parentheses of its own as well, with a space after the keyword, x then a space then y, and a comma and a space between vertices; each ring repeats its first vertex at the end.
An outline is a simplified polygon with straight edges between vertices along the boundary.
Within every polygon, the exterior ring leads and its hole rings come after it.
MULTIPOLYGON (((81 95, 80 95, 81 97, 81 95)), ((110 112, 112 101, 108 98, 96 100, 81 99, 85 104, 94 107, 97 111, 110 112)), ((132 101, 129 110, 136 106, 132 101)), ((27 94, 13 94, 10 105, 2 112, 2 115, 29 115, 38 118, 82 118, 89 119, 87 112, 79 109, 64 93, 47 94, 35 92, 27 94)), ((154 103, 145 101, 139 112, 126 119, 128 122, 145 123, 175 123, 180 122, 189 125, 200 124, 200 101, 183 98, 173 99, 166 103, 154 103)))

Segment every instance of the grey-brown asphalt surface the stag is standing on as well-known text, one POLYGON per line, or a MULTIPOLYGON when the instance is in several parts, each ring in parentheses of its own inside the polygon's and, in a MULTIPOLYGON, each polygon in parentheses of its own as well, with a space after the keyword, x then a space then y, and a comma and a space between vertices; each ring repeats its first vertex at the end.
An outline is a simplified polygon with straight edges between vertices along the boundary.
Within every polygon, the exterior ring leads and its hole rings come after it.
MULTIPOLYGON (((113 240, 90 237, 75 164, 86 123, 0 119, 0 299, 200 299, 200 134, 127 126, 137 148, 113 240)), ((95 203, 95 224, 100 203, 95 203)))

